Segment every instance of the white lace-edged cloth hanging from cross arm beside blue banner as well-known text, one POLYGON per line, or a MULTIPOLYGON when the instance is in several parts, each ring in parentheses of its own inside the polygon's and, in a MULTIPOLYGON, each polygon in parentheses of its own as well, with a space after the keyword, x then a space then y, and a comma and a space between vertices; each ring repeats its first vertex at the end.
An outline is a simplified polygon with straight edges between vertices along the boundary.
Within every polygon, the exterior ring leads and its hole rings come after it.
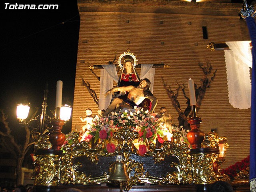
POLYGON ((229 102, 234 108, 248 109, 251 106, 250 41, 226 42, 226 44, 230 48, 224 50, 229 102))

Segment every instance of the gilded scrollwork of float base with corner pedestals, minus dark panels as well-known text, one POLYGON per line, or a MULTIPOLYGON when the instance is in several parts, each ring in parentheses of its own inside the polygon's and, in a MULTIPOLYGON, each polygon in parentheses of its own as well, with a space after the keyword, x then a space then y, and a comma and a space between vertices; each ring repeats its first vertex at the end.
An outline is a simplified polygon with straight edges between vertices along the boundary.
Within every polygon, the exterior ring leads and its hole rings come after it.
MULTIPOLYGON (((112 157, 120 154, 126 165, 130 181, 123 182, 123 190, 130 190, 132 186, 141 183, 150 184, 209 184, 218 178, 213 170, 213 162, 217 160, 218 154, 190 154, 189 145, 180 140, 180 132, 175 132, 172 141, 165 141, 160 148, 156 148, 153 142, 144 142, 147 152, 140 155, 134 141, 138 140, 139 134, 131 127, 124 127, 114 132, 110 140, 97 140, 80 142, 80 135, 76 132, 70 133, 71 138, 62 147, 62 156, 38 155, 36 164, 40 165, 40 173, 36 175, 36 185, 58 185, 58 184, 102 184, 108 181, 114 162, 110 164, 108 171, 97 177, 87 175, 82 170, 82 162, 76 158, 86 157, 92 163, 97 164, 99 157, 112 157), (110 153, 106 145, 114 143, 116 150, 110 153), (170 170, 166 175, 150 175, 144 168, 143 162, 137 162, 132 156, 152 157, 156 166, 166 157, 175 159, 169 162, 170 170), (192 164, 191 164, 192 162, 192 164), (194 177, 194 180, 193 180, 194 177)), ((216 135, 207 134, 209 146, 216 146, 216 135)), ((43 140, 43 139, 42 139, 43 140)), ((48 142, 47 139, 44 141, 48 142)), ((160 165, 159 165, 160 166, 160 165)), ((223 179, 223 178, 222 178, 223 179)))

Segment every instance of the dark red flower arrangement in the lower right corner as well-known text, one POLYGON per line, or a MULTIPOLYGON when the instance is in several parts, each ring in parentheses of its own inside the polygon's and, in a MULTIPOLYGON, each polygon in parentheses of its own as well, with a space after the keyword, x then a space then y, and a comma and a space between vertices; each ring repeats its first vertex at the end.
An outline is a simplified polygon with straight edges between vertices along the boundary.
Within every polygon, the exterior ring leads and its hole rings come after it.
POLYGON ((236 162, 234 165, 229 166, 226 169, 222 169, 220 171, 221 174, 226 174, 228 177, 230 177, 232 180, 234 180, 235 176, 241 171, 246 170, 250 165, 250 156, 244 158, 240 162, 236 162))

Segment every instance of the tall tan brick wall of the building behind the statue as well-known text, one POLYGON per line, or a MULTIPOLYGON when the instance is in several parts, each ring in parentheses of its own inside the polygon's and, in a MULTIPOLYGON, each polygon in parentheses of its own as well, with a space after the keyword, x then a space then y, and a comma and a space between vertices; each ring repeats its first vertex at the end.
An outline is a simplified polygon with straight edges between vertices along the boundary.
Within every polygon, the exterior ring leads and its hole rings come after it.
MULTIPOLYGON (((86 88, 81 86, 83 77, 99 96, 100 82, 88 70, 88 64, 107 64, 115 54, 119 56, 130 48, 137 55, 138 64, 170 65, 170 68, 156 69, 154 96, 158 98, 156 112, 165 106, 174 116, 175 124, 178 124, 178 113, 171 105, 161 77, 172 90, 177 88, 176 81, 186 85, 188 77, 200 86, 203 73, 198 62, 206 64, 210 60, 217 72, 198 112, 202 117, 201 130, 207 133, 217 128, 220 136, 227 137, 230 148, 223 168, 248 156, 250 109, 240 110, 229 104, 224 51, 206 48, 209 42, 249 40, 246 23, 238 17, 242 4, 153 0, 124 4, 121 0, 83 0, 78 1, 78 8, 81 22, 72 130, 83 125, 79 116, 85 115, 86 108, 91 108, 93 114, 98 110, 86 88), (203 39, 202 26, 207 27, 208 39, 203 39)), ((94 72, 100 76, 100 70, 94 72)), ((140 69, 137 72, 140 74, 140 69)), ((186 100, 182 92, 178 100, 184 110, 186 100)))

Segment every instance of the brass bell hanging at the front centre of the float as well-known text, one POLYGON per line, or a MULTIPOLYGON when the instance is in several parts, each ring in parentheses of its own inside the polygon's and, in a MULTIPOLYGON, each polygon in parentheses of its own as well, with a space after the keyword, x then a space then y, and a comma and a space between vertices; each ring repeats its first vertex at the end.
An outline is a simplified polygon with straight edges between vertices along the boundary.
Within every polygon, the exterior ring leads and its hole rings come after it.
POLYGON ((112 168, 112 172, 109 181, 130 181, 130 178, 126 172, 125 164, 122 162, 122 156, 116 156, 116 162, 112 168))

